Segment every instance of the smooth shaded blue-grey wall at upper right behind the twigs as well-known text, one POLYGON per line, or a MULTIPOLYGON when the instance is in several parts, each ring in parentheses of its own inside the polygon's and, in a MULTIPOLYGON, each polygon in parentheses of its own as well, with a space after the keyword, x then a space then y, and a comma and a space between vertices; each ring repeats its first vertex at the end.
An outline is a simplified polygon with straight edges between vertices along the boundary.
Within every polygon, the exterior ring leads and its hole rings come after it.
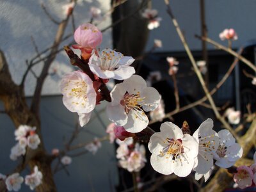
MULTIPOLYGON (((180 28, 184 31, 189 47, 192 50, 201 49, 201 42, 194 38, 200 35, 200 1, 199 0, 172 0, 170 1, 173 13, 180 28)), ((163 48, 159 51, 184 51, 179 36, 173 27, 170 17, 166 13, 163 0, 152 0, 152 8, 159 11, 162 17, 161 26, 150 31, 147 49, 153 44, 154 38, 163 41, 163 48)), ((256 1, 253 0, 205 0, 205 19, 209 30, 209 37, 221 42, 219 33, 225 28, 234 28, 238 40, 233 47, 237 48, 244 42, 256 38, 256 1)), ((227 42, 221 42, 226 45, 227 42)), ((211 45, 210 49, 214 49, 211 45)))

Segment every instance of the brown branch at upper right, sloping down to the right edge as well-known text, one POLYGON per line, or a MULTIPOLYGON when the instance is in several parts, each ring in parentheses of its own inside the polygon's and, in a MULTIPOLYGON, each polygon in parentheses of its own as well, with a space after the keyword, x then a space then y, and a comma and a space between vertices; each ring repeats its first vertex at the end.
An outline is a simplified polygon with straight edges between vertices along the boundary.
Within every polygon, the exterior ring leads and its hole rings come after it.
POLYGON ((252 70, 254 70, 256 72, 256 66, 253 65, 253 63, 249 60, 246 60, 246 58, 244 58, 243 56, 237 54, 235 51, 233 51, 232 49, 230 48, 227 48, 221 44, 218 44, 217 42, 214 42, 213 40, 211 40, 210 38, 206 38, 204 36, 199 36, 199 35, 195 35, 196 38, 199 38, 201 40, 204 40, 214 46, 216 46, 218 49, 221 49, 223 51, 226 51, 230 54, 232 54, 233 56, 235 56, 236 58, 238 58, 240 61, 243 61, 244 64, 248 65, 248 67, 252 68, 252 70))

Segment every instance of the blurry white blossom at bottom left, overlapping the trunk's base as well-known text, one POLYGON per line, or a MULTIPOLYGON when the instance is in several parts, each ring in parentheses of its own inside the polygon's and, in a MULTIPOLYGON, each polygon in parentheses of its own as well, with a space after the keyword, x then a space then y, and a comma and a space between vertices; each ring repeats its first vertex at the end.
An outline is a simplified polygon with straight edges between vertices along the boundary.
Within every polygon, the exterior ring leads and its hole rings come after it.
POLYGON ((38 166, 35 166, 33 173, 31 173, 31 175, 26 175, 25 184, 28 185, 31 190, 34 190, 42 183, 42 179, 42 172, 38 170, 38 166))

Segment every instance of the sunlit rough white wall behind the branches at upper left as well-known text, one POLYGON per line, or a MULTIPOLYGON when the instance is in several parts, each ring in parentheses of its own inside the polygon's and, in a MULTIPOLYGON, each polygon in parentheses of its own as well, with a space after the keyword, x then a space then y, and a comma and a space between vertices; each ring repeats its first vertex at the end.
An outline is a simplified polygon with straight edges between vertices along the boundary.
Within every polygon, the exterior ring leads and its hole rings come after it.
MULTIPOLYGON (((35 38, 39 51, 44 50, 52 44, 58 26, 53 24, 45 15, 40 3, 44 3, 47 10, 56 20, 65 18, 62 6, 68 0, 2 0, 0 1, 0 49, 4 51, 8 61, 10 72, 15 83, 20 83, 22 74, 26 70, 26 60, 36 55, 31 36, 35 38)), ((110 0, 79 0, 74 15, 76 26, 90 20, 89 12, 91 6, 97 6, 102 12, 110 8, 110 0)), ((100 29, 111 23, 110 17, 99 25, 100 29)), ((66 34, 72 32, 69 23, 66 34)), ((72 41, 72 37, 63 42, 61 46, 72 41)), ((102 47, 112 47, 111 29, 104 33, 102 47)), ((60 93, 60 79, 66 72, 72 71, 65 52, 61 52, 52 67, 58 68, 58 73, 47 77, 44 84, 43 95, 54 95, 60 93)), ((33 68, 36 74, 40 73, 42 63, 33 68)), ((35 78, 29 74, 26 81, 26 95, 32 95, 35 86, 35 78)))

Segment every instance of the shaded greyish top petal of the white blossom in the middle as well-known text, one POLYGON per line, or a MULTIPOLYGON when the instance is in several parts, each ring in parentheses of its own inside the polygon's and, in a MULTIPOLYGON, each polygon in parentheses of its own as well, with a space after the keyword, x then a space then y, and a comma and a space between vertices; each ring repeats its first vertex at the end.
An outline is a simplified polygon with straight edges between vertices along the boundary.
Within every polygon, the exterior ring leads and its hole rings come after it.
POLYGON ((141 92, 147 87, 146 81, 138 75, 133 75, 129 79, 124 80, 124 87, 130 94, 141 92))

